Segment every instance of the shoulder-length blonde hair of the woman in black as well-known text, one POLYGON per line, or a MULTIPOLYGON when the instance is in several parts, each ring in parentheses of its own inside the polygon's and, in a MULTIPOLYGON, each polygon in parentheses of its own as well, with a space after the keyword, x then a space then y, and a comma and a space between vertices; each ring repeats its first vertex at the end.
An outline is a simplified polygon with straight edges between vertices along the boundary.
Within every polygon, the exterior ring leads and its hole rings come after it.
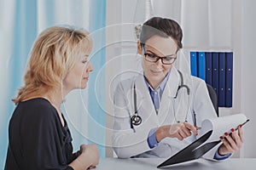
POLYGON ((61 26, 43 31, 33 44, 24 77, 25 85, 13 99, 15 105, 32 96, 61 88, 63 78, 78 56, 90 54, 91 48, 92 40, 87 31, 61 26))

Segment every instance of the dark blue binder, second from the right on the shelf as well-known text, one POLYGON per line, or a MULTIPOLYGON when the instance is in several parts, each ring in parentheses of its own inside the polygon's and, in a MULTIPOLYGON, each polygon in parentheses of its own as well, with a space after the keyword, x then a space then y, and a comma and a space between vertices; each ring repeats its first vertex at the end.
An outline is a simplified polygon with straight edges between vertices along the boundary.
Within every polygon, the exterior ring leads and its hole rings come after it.
POLYGON ((218 106, 225 106, 225 53, 218 54, 218 106))

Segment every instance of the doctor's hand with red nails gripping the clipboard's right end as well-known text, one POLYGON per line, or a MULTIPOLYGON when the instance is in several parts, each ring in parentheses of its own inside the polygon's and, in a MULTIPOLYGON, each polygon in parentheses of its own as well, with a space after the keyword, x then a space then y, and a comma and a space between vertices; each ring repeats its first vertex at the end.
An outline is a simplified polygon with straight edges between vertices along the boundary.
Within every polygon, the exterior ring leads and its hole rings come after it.
POLYGON ((230 153, 234 153, 236 150, 241 148, 243 144, 243 133, 241 125, 238 126, 238 132, 234 128, 230 130, 229 133, 224 133, 224 136, 220 137, 220 140, 223 142, 218 148, 218 155, 225 156, 230 153))

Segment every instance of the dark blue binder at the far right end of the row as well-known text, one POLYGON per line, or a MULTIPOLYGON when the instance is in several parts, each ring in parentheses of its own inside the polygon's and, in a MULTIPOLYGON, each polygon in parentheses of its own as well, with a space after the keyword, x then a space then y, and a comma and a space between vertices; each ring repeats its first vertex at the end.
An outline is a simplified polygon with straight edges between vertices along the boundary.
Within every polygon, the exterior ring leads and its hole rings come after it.
POLYGON ((233 53, 226 53, 226 107, 232 107, 233 53))

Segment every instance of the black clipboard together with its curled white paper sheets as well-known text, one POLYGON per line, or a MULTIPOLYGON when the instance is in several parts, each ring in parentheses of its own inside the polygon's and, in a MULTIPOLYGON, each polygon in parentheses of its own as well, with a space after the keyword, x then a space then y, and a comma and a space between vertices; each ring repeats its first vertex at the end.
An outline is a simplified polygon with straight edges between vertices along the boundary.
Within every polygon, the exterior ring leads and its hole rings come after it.
POLYGON ((199 139, 196 139, 183 150, 180 150, 166 161, 160 163, 157 167, 166 167, 184 161, 198 159, 221 142, 219 136, 222 136, 224 132, 228 132, 233 127, 236 127, 237 130, 238 125, 241 124, 243 126, 247 122, 249 122, 249 119, 243 114, 205 119, 201 123, 202 132, 199 131, 199 139))

